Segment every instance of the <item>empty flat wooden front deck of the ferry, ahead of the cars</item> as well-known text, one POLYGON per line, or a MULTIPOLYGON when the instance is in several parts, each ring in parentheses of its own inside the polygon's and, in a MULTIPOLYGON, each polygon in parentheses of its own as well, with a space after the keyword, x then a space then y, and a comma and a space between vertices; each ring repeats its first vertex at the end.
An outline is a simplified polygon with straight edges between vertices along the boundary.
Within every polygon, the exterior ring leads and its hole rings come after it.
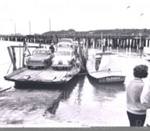
POLYGON ((70 70, 54 70, 51 67, 40 70, 20 68, 4 76, 4 78, 13 82, 65 83, 78 72, 79 70, 76 67, 72 67, 70 70))

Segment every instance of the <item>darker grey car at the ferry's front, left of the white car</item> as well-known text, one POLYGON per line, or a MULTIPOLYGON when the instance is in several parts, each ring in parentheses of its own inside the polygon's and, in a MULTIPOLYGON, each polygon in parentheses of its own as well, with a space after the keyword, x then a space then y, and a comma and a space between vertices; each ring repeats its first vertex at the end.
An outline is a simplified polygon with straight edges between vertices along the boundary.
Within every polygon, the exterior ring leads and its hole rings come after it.
POLYGON ((52 63, 54 54, 49 49, 38 48, 33 50, 32 55, 26 59, 26 66, 31 68, 47 68, 52 63))

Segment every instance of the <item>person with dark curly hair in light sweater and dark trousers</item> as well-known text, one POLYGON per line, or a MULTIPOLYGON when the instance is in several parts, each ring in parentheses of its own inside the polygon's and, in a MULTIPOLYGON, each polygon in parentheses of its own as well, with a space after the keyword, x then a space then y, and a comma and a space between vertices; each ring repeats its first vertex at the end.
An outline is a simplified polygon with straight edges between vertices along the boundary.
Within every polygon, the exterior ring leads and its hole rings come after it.
POLYGON ((127 116, 130 126, 144 126, 147 106, 141 103, 144 88, 143 78, 148 75, 148 66, 138 65, 133 69, 133 78, 125 83, 127 116))

